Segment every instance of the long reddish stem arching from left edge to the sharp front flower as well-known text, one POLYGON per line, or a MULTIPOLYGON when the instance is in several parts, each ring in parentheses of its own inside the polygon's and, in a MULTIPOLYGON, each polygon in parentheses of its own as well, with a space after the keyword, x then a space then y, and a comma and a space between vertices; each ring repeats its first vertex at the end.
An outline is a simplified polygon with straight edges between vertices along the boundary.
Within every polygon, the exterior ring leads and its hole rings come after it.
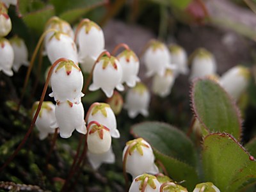
POLYGON ((33 120, 31 121, 31 124, 30 124, 30 127, 28 129, 28 131, 26 132, 26 135, 24 136, 23 140, 20 142, 19 146, 16 148, 15 152, 13 152, 12 156, 9 157, 9 159, 7 159, 7 161, 3 164, 3 166, 0 168, 0 172, 3 171, 3 169, 12 161, 12 159, 18 154, 20 148, 22 148, 22 146, 26 143, 26 141, 28 140, 28 137, 31 133, 31 131, 33 131, 33 128, 35 127, 35 122, 36 122, 36 118, 38 117, 39 115, 39 112, 40 112, 40 109, 42 107, 42 104, 43 104, 43 101, 44 101, 44 97, 45 97, 45 93, 46 93, 46 90, 47 90, 47 87, 48 87, 48 84, 49 84, 49 81, 51 79, 51 75, 52 75, 52 71, 54 69, 54 67, 56 67, 56 65, 58 65, 60 63, 60 61, 67 61, 67 59, 65 58, 60 58, 58 60, 56 60, 52 67, 50 68, 49 72, 48 72, 48 76, 47 76, 47 79, 45 81, 45 84, 44 84, 44 90, 42 92, 42 95, 41 95, 41 98, 40 98, 40 102, 38 104, 38 108, 36 109, 36 113, 33 117, 33 120))

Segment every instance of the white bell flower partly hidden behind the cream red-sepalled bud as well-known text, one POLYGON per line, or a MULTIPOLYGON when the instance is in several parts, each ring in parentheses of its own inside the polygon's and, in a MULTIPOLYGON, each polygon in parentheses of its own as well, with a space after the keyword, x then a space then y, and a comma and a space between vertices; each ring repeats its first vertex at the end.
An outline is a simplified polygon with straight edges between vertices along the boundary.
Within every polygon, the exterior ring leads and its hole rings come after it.
POLYGON ((86 122, 90 123, 92 121, 99 122, 108 127, 113 138, 120 138, 120 133, 116 129, 116 116, 109 104, 104 102, 93 103, 86 115, 86 122))

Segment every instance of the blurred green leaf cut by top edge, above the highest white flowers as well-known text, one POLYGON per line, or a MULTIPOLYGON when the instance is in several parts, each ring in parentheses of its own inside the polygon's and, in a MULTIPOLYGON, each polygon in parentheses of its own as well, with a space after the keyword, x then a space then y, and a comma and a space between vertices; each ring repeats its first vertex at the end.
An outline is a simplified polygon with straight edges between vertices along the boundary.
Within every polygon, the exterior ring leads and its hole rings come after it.
POLYGON ((50 1, 55 9, 56 13, 59 15, 61 19, 67 20, 67 22, 75 22, 80 17, 93 8, 97 8, 98 6, 106 3, 104 0, 93 0, 93 1, 81 1, 81 0, 73 0, 73 1, 62 1, 62 0, 51 0, 50 1))

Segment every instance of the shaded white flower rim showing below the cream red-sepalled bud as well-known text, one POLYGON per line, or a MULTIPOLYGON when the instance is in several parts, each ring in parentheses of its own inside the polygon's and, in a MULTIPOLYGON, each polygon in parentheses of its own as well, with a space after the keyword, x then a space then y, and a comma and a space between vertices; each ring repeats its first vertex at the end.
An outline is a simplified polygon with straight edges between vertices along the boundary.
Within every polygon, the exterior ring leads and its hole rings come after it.
POLYGON ((93 170, 97 170, 102 163, 113 164, 115 163, 115 154, 112 147, 107 152, 102 154, 93 154, 90 151, 87 152, 89 163, 92 165, 93 170))

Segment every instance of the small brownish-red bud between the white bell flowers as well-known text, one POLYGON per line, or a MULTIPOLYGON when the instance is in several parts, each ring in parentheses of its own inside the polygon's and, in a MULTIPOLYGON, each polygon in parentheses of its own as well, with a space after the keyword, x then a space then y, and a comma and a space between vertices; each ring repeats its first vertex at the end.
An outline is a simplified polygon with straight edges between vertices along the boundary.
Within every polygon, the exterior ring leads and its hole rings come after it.
POLYGON ((107 103, 109 104, 115 115, 118 115, 123 108, 124 100, 122 95, 115 91, 112 97, 107 99, 107 103))

